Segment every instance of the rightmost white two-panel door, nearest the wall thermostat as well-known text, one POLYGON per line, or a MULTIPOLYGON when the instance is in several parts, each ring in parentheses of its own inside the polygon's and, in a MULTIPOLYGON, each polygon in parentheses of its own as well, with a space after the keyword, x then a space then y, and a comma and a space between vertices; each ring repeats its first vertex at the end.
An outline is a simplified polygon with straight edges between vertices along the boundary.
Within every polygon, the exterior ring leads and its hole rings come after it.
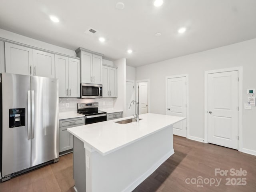
POLYGON ((208 142, 238 149, 238 71, 208 74, 208 142))

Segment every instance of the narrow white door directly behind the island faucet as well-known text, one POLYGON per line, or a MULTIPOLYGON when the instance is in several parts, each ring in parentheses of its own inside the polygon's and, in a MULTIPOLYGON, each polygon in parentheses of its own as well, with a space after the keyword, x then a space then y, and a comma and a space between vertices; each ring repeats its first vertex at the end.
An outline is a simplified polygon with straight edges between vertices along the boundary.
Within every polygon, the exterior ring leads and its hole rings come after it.
POLYGON ((135 115, 134 104, 129 109, 130 103, 135 100, 134 82, 126 81, 126 114, 127 116, 135 115))

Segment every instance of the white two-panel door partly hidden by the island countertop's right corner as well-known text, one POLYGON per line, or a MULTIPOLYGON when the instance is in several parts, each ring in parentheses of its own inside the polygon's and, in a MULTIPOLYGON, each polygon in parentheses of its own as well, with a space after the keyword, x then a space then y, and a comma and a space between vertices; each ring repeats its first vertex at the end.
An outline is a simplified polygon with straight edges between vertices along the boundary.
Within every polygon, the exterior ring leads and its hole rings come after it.
MULTIPOLYGON (((186 117, 186 77, 168 79, 168 115, 186 117)), ((186 137, 186 119, 173 125, 173 134, 186 137)))

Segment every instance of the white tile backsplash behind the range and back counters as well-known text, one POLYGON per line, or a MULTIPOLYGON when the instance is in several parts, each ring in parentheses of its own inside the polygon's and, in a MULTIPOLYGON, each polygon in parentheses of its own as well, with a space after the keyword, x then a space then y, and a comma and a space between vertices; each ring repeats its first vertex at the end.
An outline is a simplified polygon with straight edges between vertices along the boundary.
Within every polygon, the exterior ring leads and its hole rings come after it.
POLYGON ((78 103, 98 102, 99 108, 113 108, 116 98, 105 97, 96 99, 59 98, 59 112, 77 112, 78 103))

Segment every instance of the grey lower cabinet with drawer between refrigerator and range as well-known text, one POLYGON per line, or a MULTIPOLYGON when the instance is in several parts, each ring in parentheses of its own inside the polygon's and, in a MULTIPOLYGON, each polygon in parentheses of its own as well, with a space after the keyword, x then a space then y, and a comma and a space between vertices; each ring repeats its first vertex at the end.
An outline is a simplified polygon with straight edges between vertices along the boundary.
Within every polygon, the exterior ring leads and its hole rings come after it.
POLYGON ((84 117, 59 120, 59 148, 60 155, 73 151, 73 135, 68 128, 84 125, 84 117))

